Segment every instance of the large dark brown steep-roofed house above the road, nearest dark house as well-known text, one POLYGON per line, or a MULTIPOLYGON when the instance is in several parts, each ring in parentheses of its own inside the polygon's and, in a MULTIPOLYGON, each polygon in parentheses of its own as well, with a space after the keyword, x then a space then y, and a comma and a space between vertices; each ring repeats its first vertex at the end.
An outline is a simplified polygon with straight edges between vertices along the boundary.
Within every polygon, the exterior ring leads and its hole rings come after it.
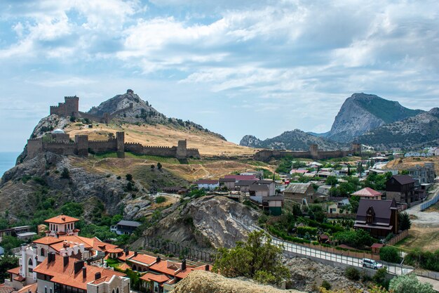
POLYGON ((353 228, 367 230, 373 237, 384 238, 398 234, 398 207, 396 200, 360 199, 353 228))

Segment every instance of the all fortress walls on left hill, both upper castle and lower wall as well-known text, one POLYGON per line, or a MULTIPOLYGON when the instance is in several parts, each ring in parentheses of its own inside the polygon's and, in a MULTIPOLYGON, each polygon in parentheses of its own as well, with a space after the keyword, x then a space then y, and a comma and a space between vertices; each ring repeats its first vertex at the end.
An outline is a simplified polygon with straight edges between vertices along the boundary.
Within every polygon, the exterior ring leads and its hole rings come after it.
MULTIPOLYGON (((128 92, 133 92, 128 90, 128 92)), ((114 113, 105 113, 102 117, 79 112, 79 98, 77 96, 65 97, 65 103, 58 106, 50 106, 50 115, 62 117, 82 117, 100 123, 108 123, 112 117, 133 109, 133 103, 128 108, 117 110, 114 113)), ((161 157, 176 157, 185 159, 188 157, 200 157, 196 148, 187 148, 187 141, 178 141, 177 146, 147 146, 141 143, 126 143, 125 133, 116 132, 116 138, 109 138, 107 141, 90 141, 87 135, 76 135, 74 141, 70 140, 69 134, 59 129, 47 134, 43 138, 32 138, 27 140, 27 157, 32 158, 41 152, 55 152, 59 155, 87 156, 88 153, 117 152, 118 157, 125 157, 125 152, 133 152, 137 155, 154 155, 161 157)))

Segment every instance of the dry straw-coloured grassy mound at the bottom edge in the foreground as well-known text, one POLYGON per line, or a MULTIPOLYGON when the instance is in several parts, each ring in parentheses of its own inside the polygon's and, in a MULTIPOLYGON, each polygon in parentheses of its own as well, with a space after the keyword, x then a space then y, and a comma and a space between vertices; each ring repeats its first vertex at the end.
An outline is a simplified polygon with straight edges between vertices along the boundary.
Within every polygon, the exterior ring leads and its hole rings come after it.
MULTIPOLYGON (((175 285, 172 293, 301 293, 259 285, 252 280, 225 278, 216 273, 193 271, 175 285)), ((303 293, 303 292, 302 292, 303 293)))

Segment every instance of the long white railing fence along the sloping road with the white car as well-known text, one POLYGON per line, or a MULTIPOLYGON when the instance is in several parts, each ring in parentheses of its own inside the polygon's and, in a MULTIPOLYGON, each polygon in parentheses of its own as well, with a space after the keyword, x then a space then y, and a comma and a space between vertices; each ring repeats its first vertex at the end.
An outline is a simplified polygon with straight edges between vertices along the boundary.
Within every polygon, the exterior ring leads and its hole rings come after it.
MULTIPOLYGON (((234 216, 230 214, 232 218, 236 221, 240 222, 245 228, 250 231, 254 230, 262 230, 255 225, 253 225, 247 219, 244 219, 239 216, 234 216)), ((379 259, 379 256, 376 254, 367 254, 363 252, 350 252, 350 251, 339 251, 333 247, 322 247, 320 245, 312 245, 312 244, 301 244, 297 245, 292 242, 287 242, 285 240, 278 239, 276 237, 271 236, 271 242, 275 245, 282 247, 283 251, 288 254, 295 254, 299 256, 311 257, 319 260, 324 260, 325 262, 331 261, 337 265, 342 264, 346 266, 363 266, 362 259, 379 259)), ((393 275, 405 275, 406 273, 410 273, 413 271, 412 267, 402 266, 397 263, 387 263, 385 261, 379 261, 383 266, 387 268, 387 272, 393 275)))

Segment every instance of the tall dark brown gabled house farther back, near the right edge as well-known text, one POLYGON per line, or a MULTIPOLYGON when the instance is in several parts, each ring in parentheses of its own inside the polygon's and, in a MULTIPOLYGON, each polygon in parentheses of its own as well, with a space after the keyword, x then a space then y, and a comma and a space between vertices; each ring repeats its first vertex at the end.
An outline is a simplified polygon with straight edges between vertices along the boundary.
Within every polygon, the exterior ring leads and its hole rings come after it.
POLYGON ((418 199, 414 193, 414 179, 408 175, 393 175, 386 182, 386 199, 410 204, 418 199))

